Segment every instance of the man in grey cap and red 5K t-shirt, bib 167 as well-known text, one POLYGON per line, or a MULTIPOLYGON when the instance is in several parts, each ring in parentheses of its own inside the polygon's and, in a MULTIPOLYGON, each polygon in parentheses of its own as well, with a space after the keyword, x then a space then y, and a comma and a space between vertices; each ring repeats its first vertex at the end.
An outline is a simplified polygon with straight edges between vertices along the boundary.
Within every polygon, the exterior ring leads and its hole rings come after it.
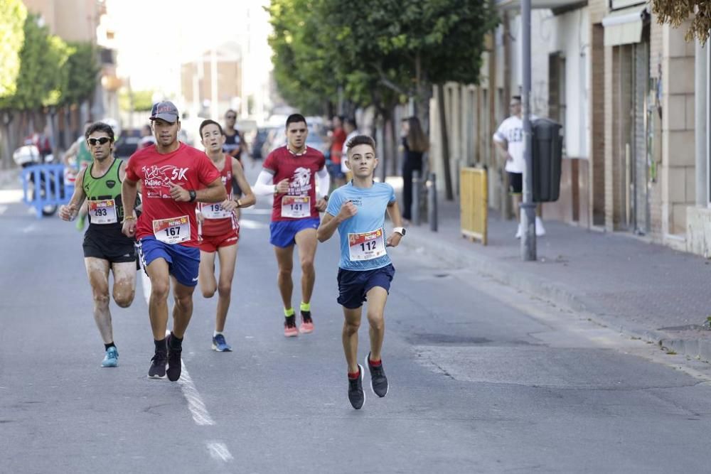
POLYGON ((151 122, 156 146, 140 149, 129 158, 121 190, 122 199, 127 199, 122 202, 133 203, 141 182, 143 213, 136 220, 127 212, 122 232, 136 236, 143 267, 151 279, 149 316, 156 349, 148 376, 162 379, 167 374, 175 382, 181 375, 183 337, 193 315, 193 291, 198 284, 196 203, 220 203, 227 193, 210 158, 178 141, 180 120, 172 102, 154 105, 151 122), (166 338, 171 279, 173 330, 166 338))

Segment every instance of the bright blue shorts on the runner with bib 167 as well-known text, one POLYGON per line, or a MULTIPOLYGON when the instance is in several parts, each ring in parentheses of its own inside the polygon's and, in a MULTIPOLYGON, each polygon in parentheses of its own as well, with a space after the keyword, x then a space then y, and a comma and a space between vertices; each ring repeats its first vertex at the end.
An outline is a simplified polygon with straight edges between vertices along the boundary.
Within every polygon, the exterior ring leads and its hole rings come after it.
MULTIPOLYGON (((169 273, 178 280, 179 284, 185 286, 198 284, 200 269, 200 249, 198 247, 166 244, 156 237, 143 237, 139 240, 137 247, 144 269, 155 259, 165 259, 168 262, 169 273)), ((148 274, 147 271, 146 274, 148 274)))

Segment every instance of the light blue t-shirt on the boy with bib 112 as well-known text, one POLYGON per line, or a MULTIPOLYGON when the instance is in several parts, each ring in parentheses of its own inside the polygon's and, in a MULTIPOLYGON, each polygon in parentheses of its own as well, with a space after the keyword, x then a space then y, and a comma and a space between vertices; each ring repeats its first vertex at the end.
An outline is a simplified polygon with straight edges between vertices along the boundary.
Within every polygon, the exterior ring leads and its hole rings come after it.
POLYGON ((353 183, 341 186, 328 198, 326 212, 341 212, 341 205, 353 202, 358 212, 338 225, 341 237, 341 262, 344 270, 374 270, 389 265, 385 251, 385 211, 395 202, 395 190, 387 183, 373 183, 370 188, 356 188, 353 183))

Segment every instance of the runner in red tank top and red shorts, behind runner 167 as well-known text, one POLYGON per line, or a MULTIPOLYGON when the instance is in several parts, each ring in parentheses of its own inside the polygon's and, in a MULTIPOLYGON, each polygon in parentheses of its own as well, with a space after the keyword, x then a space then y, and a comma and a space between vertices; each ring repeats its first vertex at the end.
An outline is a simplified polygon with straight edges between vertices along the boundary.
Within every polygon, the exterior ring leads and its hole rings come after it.
POLYGON ((200 289, 205 298, 212 298, 218 291, 218 308, 213 334, 213 350, 232 350, 225 340, 223 330, 232 296, 232 277, 237 262, 237 241, 240 239, 240 224, 235 210, 248 208, 257 202, 250 183, 245 178, 237 158, 223 153, 225 132, 214 120, 200 124, 201 143, 210 161, 218 168, 228 198, 223 203, 198 204, 198 234, 200 235, 200 289), (235 199, 232 181, 239 185, 244 197, 235 199), (220 259, 220 280, 215 281, 215 253, 220 259))

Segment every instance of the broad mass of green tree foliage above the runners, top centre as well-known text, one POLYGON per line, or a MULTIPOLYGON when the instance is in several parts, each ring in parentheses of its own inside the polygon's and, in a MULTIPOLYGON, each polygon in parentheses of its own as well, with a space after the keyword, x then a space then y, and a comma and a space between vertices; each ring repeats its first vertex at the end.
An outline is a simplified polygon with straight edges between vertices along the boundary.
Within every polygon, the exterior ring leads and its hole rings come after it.
POLYGON ((487 0, 272 0, 274 75, 289 101, 426 105, 431 85, 479 81, 487 0))

